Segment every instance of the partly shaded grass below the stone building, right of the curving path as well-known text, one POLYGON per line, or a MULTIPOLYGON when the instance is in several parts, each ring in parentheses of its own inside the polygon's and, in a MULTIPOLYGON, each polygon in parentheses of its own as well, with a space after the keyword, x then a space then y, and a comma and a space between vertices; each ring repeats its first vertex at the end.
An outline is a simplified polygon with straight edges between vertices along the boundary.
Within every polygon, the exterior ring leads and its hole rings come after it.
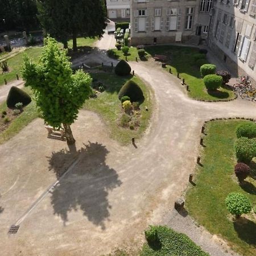
POLYGON ((189 85, 188 95, 196 100, 226 100, 234 98, 234 93, 228 88, 220 88, 216 92, 208 93, 205 89, 204 81, 201 79, 200 67, 197 67, 193 55, 199 53, 195 47, 181 46, 158 46, 145 47, 148 55, 166 55, 168 57, 166 71, 171 68, 174 76, 180 73, 181 79, 189 85))

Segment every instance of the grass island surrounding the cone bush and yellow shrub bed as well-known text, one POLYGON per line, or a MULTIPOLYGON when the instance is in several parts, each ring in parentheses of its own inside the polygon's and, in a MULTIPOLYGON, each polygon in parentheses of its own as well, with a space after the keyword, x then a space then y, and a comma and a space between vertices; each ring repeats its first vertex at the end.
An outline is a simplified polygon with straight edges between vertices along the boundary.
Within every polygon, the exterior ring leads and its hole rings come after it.
POLYGON ((105 123, 110 127, 110 137, 122 144, 131 142, 131 138, 141 138, 146 130, 152 113, 151 91, 138 77, 119 77, 114 73, 91 73, 94 79, 102 81, 106 90, 97 98, 90 98, 85 102, 84 108, 92 110, 102 116, 105 123), (144 102, 141 104, 141 121, 136 130, 130 130, 118 125, 118 117, 121 113, 121 101, 118 100, 118 92, 128 80, 133 80, 141 87, 144 94, 144 102), (148 111, 145 107, 147 106, 148 111))

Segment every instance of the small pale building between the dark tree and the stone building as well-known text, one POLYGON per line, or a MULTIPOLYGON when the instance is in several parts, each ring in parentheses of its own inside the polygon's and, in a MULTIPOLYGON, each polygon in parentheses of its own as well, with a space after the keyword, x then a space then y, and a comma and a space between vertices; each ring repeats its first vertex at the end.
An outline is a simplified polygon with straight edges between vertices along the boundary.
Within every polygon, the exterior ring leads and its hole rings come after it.
POLYGON ((106 0, 109 19, 130 19, 130 0, 106 0))

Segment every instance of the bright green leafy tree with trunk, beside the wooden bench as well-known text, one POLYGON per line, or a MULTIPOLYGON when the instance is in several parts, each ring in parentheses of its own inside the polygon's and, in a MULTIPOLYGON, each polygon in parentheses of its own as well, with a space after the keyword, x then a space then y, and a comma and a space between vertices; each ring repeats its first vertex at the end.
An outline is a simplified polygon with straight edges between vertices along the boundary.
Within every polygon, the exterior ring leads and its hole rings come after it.
POLYGON ((63 125, 67 143, 74 144, 70 126, 92 93, 90 75, 82 70, 73 75, 67 51, 60 49, 55 39, 47 37, 38 64, 24 56, 22 76, 25 86, 35 93, 44 121, 53 127, 63 125))

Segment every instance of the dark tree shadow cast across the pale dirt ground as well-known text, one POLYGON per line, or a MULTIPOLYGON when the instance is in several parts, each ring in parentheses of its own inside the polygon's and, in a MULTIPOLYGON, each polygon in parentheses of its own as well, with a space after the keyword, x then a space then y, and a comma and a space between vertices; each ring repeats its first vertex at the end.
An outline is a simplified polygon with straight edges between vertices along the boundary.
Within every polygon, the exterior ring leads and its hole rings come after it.
POLYGON ((68 213, 81 210, 94 225, 105 229, 104 221, 110 216, 111 205, 108 201, 109 191, 119 187, 122 182, 117 172, 106 165, 109 151, 99 143, 84 144, 76 154, 61 150, 53 152, 49 159, 49 169, 59 179, 69 165, 78 157, 78 163, 64 177, 51 195, 54 214, 65 223, 68 213))

